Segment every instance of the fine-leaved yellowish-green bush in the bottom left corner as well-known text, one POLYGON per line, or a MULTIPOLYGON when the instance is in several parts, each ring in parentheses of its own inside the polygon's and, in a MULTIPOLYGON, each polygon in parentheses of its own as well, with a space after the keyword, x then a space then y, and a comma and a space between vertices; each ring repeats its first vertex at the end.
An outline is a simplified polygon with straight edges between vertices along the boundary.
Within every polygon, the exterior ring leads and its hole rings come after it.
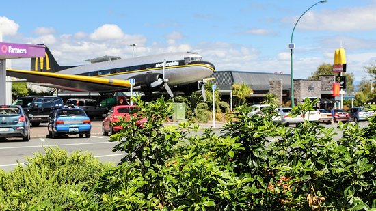
POLYGON ((88 190, 105 169, 88 153, 44 150, 25 167, 0 172, 0 210, 70 210, 70 190, 88 190))

